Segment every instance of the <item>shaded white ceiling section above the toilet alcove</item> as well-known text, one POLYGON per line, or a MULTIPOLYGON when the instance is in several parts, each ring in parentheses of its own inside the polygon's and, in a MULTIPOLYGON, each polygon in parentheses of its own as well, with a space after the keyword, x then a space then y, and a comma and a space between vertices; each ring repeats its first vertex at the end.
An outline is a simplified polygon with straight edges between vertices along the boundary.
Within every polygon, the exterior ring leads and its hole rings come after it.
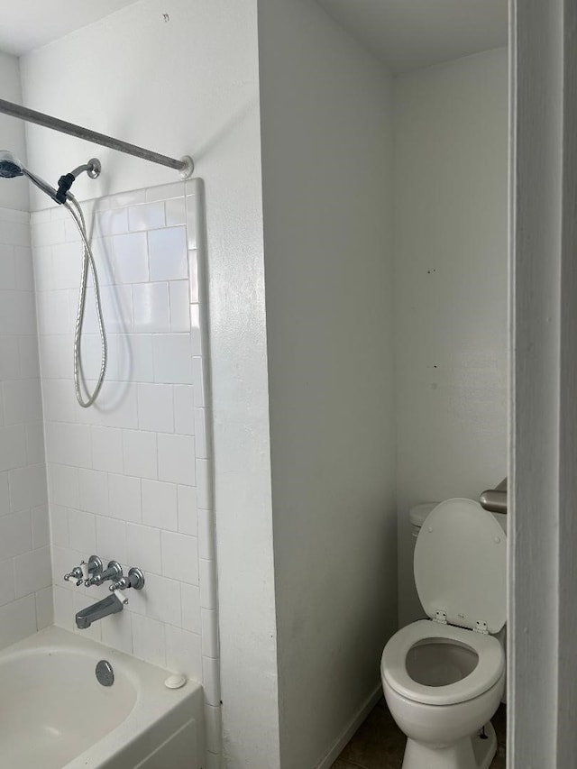
POLYGON ((507 45, 507 0, 317 0, 393 72, 507 45))

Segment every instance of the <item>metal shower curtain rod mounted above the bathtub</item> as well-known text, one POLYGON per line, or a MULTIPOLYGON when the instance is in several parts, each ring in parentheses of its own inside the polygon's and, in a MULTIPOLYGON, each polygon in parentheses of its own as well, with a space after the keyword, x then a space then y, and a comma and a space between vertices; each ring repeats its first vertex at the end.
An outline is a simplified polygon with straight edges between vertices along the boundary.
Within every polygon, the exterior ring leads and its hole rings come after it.
POLYGON ((136 158, 142 158, 142 160, 150 160, 151 163, 159 163, 161 166, 168 166, 169 169, 178 170, 181 179, 188 179, 194 170, 194 162, 188 155, 185 155, 179 160, 176 158, 169 158, 167 155, 160 155, 158 152, 145 150, 143 147, 137 147, 135 144, 129 144, 120 139, 114 139, 112 136, 106 136, 105 133, 97 133, 96 131, 91 131, 89 128, 83 128, 81 125, 67 123, 67 121, 60 120, 58 117, 52 117, 50 114, 36 112, 33 109, 28 109, 28 107, 16 105, 13 102, 7 102, 5 99, 0 99, 0 113, 9 114, 12 117, 19 117, 21 120, 25 120, 28 123, 43 125, 45 128, 51 128, 54 131, 69 133, 70 136, 76 136, 78 139, 102 144, 103 147, 108 147, 110 150, 125 152, 128 155, 134 155, 136 158))

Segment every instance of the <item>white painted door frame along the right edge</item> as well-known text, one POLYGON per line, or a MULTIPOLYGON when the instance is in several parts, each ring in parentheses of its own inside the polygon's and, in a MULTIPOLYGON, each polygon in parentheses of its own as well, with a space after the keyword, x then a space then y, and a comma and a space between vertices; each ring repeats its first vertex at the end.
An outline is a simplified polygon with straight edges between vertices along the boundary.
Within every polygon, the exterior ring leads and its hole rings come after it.
POLYGON ((515 769, 571 766, 577 749, 573 5, 512 3, 508 762, 515 769))

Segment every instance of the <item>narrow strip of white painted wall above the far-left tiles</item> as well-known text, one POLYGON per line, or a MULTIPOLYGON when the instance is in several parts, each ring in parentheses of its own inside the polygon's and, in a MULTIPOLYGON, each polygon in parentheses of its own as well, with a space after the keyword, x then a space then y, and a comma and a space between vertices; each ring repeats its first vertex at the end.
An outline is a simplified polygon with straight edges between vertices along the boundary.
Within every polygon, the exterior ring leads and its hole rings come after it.
MULTIPOLYGON (((20 67, 15 56, 0 51, 0 96, 9 102, 22 104, 20 67)), ((26 161, 24 126, 22 121, 0 114, 0 150, 9 150, 26 161)), ((28 182, 25 179, 0 179, 0 206, 29 211, 28 182)))

